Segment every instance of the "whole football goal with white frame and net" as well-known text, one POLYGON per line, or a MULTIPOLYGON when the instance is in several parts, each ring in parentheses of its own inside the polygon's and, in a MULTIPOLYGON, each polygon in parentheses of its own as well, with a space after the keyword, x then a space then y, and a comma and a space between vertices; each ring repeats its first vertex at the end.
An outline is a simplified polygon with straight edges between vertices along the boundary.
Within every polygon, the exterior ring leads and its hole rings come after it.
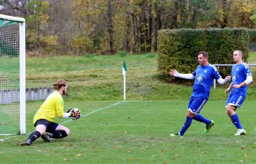
POLYGON ((25 19, 0 14, 0 135, 25 133, 25 19))

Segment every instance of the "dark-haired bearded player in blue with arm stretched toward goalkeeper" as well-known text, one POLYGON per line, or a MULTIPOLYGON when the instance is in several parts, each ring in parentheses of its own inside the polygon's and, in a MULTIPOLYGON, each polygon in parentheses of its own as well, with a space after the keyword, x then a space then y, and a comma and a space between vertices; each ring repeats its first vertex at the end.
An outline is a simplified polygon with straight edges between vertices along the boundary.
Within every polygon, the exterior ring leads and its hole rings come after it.
POLYGON ((217 68, 208 62, 207 52, 199 52, 198 54, 199 65, 192 74, 179 74, 176 70, 171 70, 170 75, 184 79, 195 79, 194 88, 189 100, 188 112, 186 121, 184 122, 179 133, 170 134, 170 136, 182 136, 192 123, 192 119, 203 122, 206 124, 204 133, 209 132, 214 125, 214 121, 204 118, 200 115, 200 111, 204 104, 207 102, 210 94, 213 79, 216 79, 219 84, 225 84, 230 81, 230 76, 222 79, 217 68))

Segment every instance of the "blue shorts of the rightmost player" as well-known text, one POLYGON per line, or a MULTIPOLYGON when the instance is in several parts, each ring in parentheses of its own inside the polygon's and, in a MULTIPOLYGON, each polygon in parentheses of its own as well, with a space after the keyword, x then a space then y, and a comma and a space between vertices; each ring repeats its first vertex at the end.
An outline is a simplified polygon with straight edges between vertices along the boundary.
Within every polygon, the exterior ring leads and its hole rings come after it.
POLYGON ((241 107, 242 103, 244 102, 245 96, 241 96, 241 94, 236 92, 231 92, 230 95, 227 98, 227 105, 232 105, 234 107, 239 108, 241 107))

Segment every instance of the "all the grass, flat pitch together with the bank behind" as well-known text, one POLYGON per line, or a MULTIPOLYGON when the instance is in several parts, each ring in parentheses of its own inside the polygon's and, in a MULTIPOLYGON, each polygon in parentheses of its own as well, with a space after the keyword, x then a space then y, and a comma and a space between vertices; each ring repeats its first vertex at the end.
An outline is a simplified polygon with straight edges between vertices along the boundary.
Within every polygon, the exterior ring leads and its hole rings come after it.
MULTIPOLYGON (((255 61, 256 53, 250 53, 248 63, 255 61)), ((1 164, 256 163, 256 82, 237 110, 246 136, 233 136, 236 127, 224 108, 227 84, 212 89, 201 110, 215 121, 210 132, 204 133, 205 125, 193 121, 180 139, 169 134, 179 132, 186 119, 192 87, 160 81, 156 54, 26 59, 27 88, 50 87, 59 78, 69 83, 65 110, 76 107, 83 115, 77 121, 56 119, 70 128, 70 136, 53 143, 38 139, 31 147, 20 147, 35 130, 33 117, 43 101, 26 102, 27 134, 0 136, 1 164), (122 102, 124 58, 127 102, 122 102)))

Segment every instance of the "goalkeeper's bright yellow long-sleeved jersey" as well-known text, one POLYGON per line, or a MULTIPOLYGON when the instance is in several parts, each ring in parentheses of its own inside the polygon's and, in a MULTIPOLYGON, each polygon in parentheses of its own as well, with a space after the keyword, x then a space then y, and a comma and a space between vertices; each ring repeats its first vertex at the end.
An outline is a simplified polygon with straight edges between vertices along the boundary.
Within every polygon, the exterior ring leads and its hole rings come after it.
POLYGON ((41 105, 34 116, 34 124, 38 119, 47 119, 49 122, 54 122, 55 118, 64 116, 64 102, 58 90, 51 93, 44 103, 41 105))

